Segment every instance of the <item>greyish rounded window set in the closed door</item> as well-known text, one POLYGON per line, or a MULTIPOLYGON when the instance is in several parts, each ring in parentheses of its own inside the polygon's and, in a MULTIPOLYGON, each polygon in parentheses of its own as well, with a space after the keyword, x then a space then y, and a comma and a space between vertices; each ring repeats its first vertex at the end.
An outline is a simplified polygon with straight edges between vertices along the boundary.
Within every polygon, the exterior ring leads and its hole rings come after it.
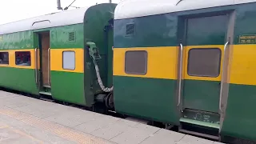
POLYGON ((218 77, 221 54, 218 48, 190 49, 187 73, 190 76, 218 77))

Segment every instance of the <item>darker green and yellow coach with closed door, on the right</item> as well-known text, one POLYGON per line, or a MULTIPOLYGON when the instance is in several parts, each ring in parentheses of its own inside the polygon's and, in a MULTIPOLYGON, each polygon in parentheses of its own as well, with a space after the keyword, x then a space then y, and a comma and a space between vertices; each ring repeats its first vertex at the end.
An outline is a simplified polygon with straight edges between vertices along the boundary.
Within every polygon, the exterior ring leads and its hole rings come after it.
POLYGON ((115 110, 186 134, 255 142, 255 56, 255 0, 122 1, 115 110))

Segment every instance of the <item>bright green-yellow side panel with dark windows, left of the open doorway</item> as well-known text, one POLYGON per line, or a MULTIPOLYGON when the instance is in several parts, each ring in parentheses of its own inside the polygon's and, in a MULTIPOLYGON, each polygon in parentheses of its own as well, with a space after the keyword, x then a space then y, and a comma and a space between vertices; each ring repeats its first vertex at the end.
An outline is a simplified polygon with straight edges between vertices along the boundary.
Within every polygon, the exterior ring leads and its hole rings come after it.
POLYGON ((38 94, 33 47, 32 31, 0 35, 0 86, 38 94))

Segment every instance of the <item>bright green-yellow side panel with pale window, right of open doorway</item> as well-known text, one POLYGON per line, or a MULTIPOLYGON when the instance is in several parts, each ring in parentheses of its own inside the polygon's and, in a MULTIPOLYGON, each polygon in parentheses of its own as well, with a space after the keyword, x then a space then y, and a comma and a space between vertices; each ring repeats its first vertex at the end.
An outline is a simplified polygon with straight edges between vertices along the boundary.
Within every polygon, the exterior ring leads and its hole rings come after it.
POLYGON ((55 99, 79 105, 86 103, 83 38, 83 24, 50 30, 51 91, 55 99))

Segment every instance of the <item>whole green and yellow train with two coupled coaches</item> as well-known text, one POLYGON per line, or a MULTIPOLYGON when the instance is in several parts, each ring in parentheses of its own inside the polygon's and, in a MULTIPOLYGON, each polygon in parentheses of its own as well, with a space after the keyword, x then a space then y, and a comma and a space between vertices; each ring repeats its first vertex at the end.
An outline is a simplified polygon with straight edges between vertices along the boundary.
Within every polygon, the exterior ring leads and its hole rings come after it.
POLYGON ((123 0, 6 23, 0 86, 218 142, 256 143, 255 7, 123 0))

